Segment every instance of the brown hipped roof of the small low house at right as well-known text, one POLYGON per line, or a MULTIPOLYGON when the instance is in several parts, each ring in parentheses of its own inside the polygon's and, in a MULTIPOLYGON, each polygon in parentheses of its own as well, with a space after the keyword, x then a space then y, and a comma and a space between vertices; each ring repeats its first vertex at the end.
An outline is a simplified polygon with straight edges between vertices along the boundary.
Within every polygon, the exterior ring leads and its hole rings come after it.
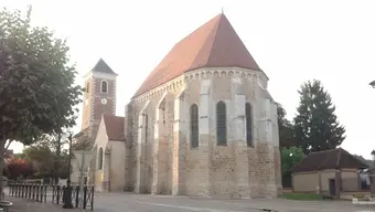
POLYGON ((342 148, 309 153, 292 168, 292 172, 319 171, 324 169, 361 169, 368 168, 363 161, 342 148))

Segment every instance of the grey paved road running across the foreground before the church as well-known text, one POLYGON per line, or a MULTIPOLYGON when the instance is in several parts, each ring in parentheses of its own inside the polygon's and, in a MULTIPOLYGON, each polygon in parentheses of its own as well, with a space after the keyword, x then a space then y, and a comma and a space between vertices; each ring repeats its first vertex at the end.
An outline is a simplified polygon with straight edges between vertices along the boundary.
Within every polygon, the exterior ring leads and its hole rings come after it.
POLYGON ((97 212, 375 212, 375 205, 355 206, 346 201, 289 201, 289 200, 213 200, 203 198, 149 195, 133 193, 97 193, 97 212))

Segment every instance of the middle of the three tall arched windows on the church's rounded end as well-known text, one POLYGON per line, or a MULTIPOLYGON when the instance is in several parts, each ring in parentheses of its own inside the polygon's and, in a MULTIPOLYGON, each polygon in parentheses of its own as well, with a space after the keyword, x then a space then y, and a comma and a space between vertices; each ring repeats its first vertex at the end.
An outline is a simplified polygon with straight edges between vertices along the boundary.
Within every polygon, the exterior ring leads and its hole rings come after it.
POLYGON ((223 100, 216 105, 217 146, 226 146, 226 106, 223 100))

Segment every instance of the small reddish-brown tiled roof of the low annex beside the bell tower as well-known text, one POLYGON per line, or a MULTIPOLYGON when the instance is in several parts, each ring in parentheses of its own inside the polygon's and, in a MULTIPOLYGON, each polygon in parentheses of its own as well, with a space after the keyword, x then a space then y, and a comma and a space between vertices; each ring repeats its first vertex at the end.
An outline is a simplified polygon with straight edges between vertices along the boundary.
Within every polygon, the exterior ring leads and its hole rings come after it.
POLYGON ((108 140, 125 141, 124 125, 125 118, 120 116, 103 115, 106 125, 108 140))

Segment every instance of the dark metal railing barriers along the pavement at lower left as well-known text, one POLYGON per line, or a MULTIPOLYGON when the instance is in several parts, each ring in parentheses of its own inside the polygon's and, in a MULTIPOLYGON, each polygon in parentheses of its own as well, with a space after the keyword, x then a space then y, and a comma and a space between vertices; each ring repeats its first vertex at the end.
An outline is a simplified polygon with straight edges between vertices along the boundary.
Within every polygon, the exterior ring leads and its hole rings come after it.
MULTIPOLYGON (((66 187, 30 184, 30 183, 9 183, 9 195, 15 198, 25 198, 36 202, 64 204, 66 187)), ((94 186, 84 186, 83 192, 79 192, 79 186, 72 186, 72 204, 75 208, 84 210, 94 210, 94 186)))

